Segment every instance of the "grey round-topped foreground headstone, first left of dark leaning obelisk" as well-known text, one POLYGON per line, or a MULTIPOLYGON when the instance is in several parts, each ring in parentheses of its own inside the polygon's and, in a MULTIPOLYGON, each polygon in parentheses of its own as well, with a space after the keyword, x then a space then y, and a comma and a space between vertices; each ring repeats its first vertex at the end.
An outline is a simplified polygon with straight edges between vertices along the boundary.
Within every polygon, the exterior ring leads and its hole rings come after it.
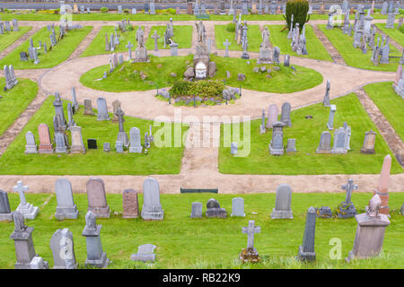
POLYGON ((281 184, 277 187, 277 197, 275 208, 272 210, 272 219, 293 219, 294 215, 291 209, 292 188, 289 185, 281 184))

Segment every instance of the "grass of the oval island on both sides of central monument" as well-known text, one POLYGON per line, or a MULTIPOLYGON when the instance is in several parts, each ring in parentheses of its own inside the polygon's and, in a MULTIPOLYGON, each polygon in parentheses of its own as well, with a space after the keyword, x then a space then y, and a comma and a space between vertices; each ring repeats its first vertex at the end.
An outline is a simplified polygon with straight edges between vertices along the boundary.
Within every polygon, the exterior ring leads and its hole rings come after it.
MULTIPOLYGON (((151 57, 151 63, 124 63, 119 65, 107 79, 97 81, 102 77, 104 71, 108 71, 110 65, 101 65, 93 68, 80 78, 80 83, 89 88, 100 91, 147 91, 155 89, 154 83, 159 88, 169 87, 171 84, 182 79, 188 63, 192 62, 192 56, 187 57, 151 57), (159 67, 160 66, 160 67, 159 67), (134 74, 133 71, 137 71, 134 74), (144 71, 147 74, 145 81, 140 79, 139 73, 144 71), (171 77, 176 73, 176 77, 171 77), (135 80, 135 81, 134 81, 135 80)), ((242 58, 217 57, 211 55, 217 67, 213 79, 225 79, 226 84, 255 91, 270 92, 294 92, 310 89, 322 83, 322 75, 312 69, 294 65, 296 73, 290 67, 281 65, 280 71, 273 70, 272 77, 266 78, 265 73, 254 73, 252 69, 256 66, 256 60, 251 59, 250 65, 242 58), (231 77, 226 78, 226 71, 231 71, 231 77), (246 74, 244 82, 237 81, 237 72, 246 74)), ((265 65, 272 68, 273 65, 265 65)))

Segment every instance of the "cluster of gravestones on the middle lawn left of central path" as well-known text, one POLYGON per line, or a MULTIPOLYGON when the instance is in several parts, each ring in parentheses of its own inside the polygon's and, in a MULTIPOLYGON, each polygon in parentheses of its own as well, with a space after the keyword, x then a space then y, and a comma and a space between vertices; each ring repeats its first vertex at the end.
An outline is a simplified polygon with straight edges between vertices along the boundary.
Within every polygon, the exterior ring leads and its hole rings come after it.
MULTIPOLYGON (((63 101, 60 99, 58 92, 55 92, 55 101, 53 106, 55 107, 55 116, 53 117, 53 127, 54 127, 54 139, 53 143, 50 137, 49 128, 46 124, 40 124, 38 126, 38 134, 40 139, 40 144, 37 145, 35 141, 35 136, 31 131, 28 131, 25 135, 26 145, 25 153, 85 153, 86 148, 83 143, 83 135, 81 126, 77 126, 75 123, 74 115, 80 108, 76 96, 75 87, 72 87, 72 98, 73 102, 67 103, 67 118, 66 121, 65 112, 63 109, 63 101), (71 142, 69 144, 68 136, 66 131, 69 130, 71 134, 71 142), (55 146, 54 146, 55 145, 55 146)), ((149 131, 145 132, 145 149, 141 144, 140 129, 136 126, 132 127, 129 131, 129 137, 125 132, 123 123, 125 122, 125 113, 121 109, 121 104, 119 100, 112 102, 113 106, 113 118, 112 123, 119 123, 119 131, 117 135, 117 141, 115 143, 115 150, 118 153, 124 153, 127 150, 129 153, 136 152, 147 154, 154 142, 154 136, 152 135, 152 126, 150 126, 149 131)), ((98 121, 110 121, 110 115, 107 109, 107 101, 104 98, 97 99, 97 120, 98 121)), ((94 116, 92 110, 92 101, 84 100, 84 112, 83 115, 94 116)), ((97 140, 94 138, 87 139, 87 147, 89 150, 97 150, 98 144, 97 140)), ((111 144, 103 143, 103 151, 110 152, 111 144)))

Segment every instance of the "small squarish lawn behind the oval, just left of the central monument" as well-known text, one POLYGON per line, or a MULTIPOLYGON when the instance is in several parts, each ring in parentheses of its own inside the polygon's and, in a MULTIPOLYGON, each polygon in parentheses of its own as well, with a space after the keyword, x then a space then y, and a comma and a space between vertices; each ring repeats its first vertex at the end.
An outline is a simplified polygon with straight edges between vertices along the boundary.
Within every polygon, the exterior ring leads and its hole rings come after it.
MULTIPOLYGON (((192 31, 193 27, 190 25, 175 25, 173 22, 174 26, 174 37, 172 37, 172 40, 178 44, 178 48, 191 48, 192 47, 192 31)), ((146 48, 149 51, 154 51, 154 39, 152 36, 154 35, 154 30, 157 31, 157 35, 160 36, 159 39, 157 39, 157 46, 159 49, 163 49, 163 43, 164 43, 164 32, 167 29, 167 26, 152 26, 149 32, 149 36, 146 40, 146 48)), ((135 47, 136 48, 136 47, 135 47)), ((135 50, 134 48, 134 50, 135 50)), ((167 45, 165 49, 169 49, 170 45, 167 45)))

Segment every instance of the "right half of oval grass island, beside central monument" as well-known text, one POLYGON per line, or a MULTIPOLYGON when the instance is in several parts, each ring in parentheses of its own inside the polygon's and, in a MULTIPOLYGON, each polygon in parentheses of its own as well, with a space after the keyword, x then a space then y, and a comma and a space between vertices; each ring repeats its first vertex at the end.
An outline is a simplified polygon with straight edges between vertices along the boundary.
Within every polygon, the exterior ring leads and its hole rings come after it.
MULTIPOLYGON (((303 66, 294 65, 296 68, 295 74, 291 67, 279 65, 281 70, 273 70, 274 65, 264 65, 272 69, 271 78, 267 78, 267 72, 254 73, 252 69, 257 65, 257 60, 251 59, 250 65, 242 58, 234 57, 217 57, 211 56, 211 61, 215 61, 217 71, 214 79, 225 79, 226 84, 243 89, 254 91, 268 91, 287 93, 294 91, 303 91, 310 89, 322 83, 322 75, 312 69, 303 66), (226 71, 230 71, 230 79, 226 78, 226 71), (246 75, 246 80, 243 82, 237 81, 237 74, 243 73, 246 75)), ((292 63, 293 64, 293 63, 292 63)))

